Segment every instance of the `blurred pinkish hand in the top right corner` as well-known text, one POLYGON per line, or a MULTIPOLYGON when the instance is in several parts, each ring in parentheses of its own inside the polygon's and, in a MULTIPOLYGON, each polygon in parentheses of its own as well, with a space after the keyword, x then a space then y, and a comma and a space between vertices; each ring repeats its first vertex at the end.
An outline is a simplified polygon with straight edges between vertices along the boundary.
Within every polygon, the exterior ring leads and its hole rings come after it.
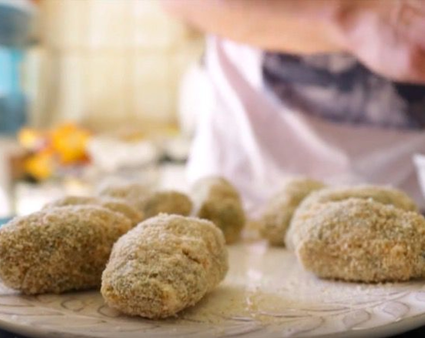
POLYGON ((344 49, 392 80, 425 83, 425 0, 347 0, 341 8, 344 49))

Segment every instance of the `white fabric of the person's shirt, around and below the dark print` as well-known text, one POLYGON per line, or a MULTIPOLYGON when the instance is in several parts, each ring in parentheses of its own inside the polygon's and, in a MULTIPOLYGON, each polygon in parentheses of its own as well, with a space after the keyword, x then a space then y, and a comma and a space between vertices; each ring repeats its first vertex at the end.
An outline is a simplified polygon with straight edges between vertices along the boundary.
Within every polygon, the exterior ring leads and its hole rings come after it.
POLYGON ((392 185, 425 206, 412 159, 425 153, 423 131, 335 123, 288 108, 266 87, 262 61, 262 51, 208 38, 213 105, 198 116, 190 182, 227 177, 254 215, 290 175, 392 185))

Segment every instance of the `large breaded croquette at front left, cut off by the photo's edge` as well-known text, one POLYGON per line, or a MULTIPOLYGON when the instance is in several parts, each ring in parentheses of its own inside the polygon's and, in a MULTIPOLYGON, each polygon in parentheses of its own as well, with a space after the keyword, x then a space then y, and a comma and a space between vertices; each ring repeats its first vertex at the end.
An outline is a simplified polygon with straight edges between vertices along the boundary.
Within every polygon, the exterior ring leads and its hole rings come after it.
POLYGON ((99 287, 113 243, 131 227, 97 206, 45 209, 0 229, 0 277, 26 294, 99 287))

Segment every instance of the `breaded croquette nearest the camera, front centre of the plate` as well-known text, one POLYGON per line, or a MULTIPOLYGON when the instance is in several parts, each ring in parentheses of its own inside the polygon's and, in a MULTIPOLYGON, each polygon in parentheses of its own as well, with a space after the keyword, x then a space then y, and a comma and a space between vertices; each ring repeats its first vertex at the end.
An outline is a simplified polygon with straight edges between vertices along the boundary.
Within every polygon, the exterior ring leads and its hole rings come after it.
POLYGON ((101 293, 125 314, 165 318, 196 304, 227 270, 223 233, 214 224, 161 214, 116 242, 101 293))

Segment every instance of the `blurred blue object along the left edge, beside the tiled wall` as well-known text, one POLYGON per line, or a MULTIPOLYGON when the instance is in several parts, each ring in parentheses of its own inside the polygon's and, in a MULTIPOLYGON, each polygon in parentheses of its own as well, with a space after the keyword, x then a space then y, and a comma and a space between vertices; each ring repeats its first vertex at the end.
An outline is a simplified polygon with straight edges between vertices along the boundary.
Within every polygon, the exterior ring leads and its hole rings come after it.
POLYGON ((0 134, 13 134, 26 122, 27 102, 20 80, 32 14, 28 4, 0 1, 0 134))

